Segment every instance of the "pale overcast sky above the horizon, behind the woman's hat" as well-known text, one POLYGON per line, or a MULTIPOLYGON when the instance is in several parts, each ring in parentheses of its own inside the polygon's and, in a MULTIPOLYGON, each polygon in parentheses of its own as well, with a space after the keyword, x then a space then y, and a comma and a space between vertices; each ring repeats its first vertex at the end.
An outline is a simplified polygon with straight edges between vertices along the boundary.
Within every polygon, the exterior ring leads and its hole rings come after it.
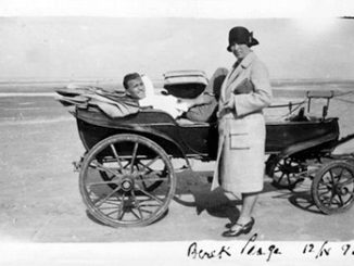
POLYGON ((269 1, 257 8, 227 0, 2 1, 0 80, 121 79, 132 71, 159 79, 170 69, 211 75, 233 63, 226 46, 237 25, 254 31, 261 42, 254 51, 273 79, 354 79, 354 20, 334 18, 351 14, 345 0, 275 0, 277 9, 266 9, 269 1))

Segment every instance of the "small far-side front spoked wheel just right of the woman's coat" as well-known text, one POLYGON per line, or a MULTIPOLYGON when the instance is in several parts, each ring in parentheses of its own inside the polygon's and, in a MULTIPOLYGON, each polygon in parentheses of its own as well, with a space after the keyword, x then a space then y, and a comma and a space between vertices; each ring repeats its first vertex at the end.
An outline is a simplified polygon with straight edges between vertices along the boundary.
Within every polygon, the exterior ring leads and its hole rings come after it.
POLYGON ((303 181, 301 176, 306 172, 306 165, 292 156, 279 157, 270 155, 266 163, 266 174, 273 178, 278 188, 293 189, 298 182, 303 181))

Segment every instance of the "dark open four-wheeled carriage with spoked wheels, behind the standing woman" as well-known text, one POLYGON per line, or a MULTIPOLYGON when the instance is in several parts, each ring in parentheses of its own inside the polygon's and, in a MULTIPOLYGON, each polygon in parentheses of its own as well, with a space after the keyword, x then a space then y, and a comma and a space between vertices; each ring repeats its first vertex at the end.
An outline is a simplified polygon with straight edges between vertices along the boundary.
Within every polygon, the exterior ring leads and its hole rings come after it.
MULTIPOLYGON (((309 102, 318 97, 307 93, 309 102)), ((326 214, 343 212, 354 202, 352 156, 331 156, 343 142, 338 118, 326 117, 331 97, 325 96, 320 117, 300 110, 266 124, 266 174, 290 189, 311 178, 314 202, 326 214)), ((89 213, 109 226, 146 226, 164 215, 176 189, 172 159, 187 165, 190 159, 216 159, 216 123, 179 124, 154 109, 110 118, 90 104, 77 106, 74 115, 86 149, 76 163, 80 193, 89 213)))

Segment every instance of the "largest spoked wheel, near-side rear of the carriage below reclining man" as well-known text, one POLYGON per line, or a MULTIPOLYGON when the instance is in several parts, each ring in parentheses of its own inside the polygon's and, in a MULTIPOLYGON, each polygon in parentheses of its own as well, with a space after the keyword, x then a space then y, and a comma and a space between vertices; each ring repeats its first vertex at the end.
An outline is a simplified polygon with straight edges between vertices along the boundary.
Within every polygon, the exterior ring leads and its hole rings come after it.
POLYGON ((113 226, 146 226, 167 210, 176 190, 166 152, 138 135, 115 135, 85 156, 79 188, 90 214, 113 226))

